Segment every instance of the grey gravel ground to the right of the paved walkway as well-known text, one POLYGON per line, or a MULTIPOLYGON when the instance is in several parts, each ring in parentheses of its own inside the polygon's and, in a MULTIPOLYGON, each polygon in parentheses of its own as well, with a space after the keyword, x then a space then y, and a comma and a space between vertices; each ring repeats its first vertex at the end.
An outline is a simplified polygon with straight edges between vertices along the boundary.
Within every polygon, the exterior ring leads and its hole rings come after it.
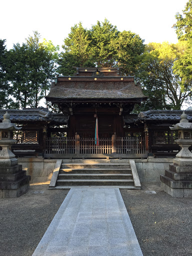
POLYGON ((171 197, 158 184, 120 192, 144 256, 192 255, 192 198, 171 197))

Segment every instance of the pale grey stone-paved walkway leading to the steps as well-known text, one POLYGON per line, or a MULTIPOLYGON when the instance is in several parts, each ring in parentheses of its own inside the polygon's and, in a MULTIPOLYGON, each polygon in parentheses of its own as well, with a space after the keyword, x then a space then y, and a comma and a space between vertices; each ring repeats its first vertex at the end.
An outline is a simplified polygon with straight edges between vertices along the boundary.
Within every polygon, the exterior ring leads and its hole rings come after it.
POLYGON ((118 188, 71 188, 32 256, 141 256, 118 188))

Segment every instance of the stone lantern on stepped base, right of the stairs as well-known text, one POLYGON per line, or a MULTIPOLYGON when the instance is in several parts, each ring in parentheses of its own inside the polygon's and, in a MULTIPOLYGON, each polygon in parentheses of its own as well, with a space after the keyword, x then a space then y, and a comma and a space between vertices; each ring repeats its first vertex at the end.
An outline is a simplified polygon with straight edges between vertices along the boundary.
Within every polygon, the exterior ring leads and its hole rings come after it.
POLYGON ((192 153, 188 147, 192 144, 192 123, 188 122, 184 112, 180 118, 179 123, 169 128, 178 131, 178 139, 175 142, 181 150, 176 154, 173 163, 169 164, 165 174, 160 175, 160 186, 171 196, 189 197, 192 196, 192 153))

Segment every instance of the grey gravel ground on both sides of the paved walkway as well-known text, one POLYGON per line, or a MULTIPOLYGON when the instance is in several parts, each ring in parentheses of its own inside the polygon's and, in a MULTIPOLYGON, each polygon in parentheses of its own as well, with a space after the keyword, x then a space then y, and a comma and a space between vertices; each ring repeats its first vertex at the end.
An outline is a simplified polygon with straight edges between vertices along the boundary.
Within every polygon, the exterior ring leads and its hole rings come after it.
MULTIPOLYGON (((18 198, 0 198, 0 256, 31 256, 68 190, 30 185, 18 198)), ((156 183, 120 191, 144 256, 192 255, 192 198, 171 197, 156 183)))

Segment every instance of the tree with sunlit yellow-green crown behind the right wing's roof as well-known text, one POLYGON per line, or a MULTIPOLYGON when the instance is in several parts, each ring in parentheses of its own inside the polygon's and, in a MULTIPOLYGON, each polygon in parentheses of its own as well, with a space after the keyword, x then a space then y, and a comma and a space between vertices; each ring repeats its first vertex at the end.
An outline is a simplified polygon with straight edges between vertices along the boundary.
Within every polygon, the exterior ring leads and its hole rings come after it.
POLYGON ((183 53, 183 44, 149 43, 145 46, 138 77, 148 99, 143 110, 180 109, 191 96, 189 86, 181 90, 182 78, 173 72, 173 64, 183 53))

